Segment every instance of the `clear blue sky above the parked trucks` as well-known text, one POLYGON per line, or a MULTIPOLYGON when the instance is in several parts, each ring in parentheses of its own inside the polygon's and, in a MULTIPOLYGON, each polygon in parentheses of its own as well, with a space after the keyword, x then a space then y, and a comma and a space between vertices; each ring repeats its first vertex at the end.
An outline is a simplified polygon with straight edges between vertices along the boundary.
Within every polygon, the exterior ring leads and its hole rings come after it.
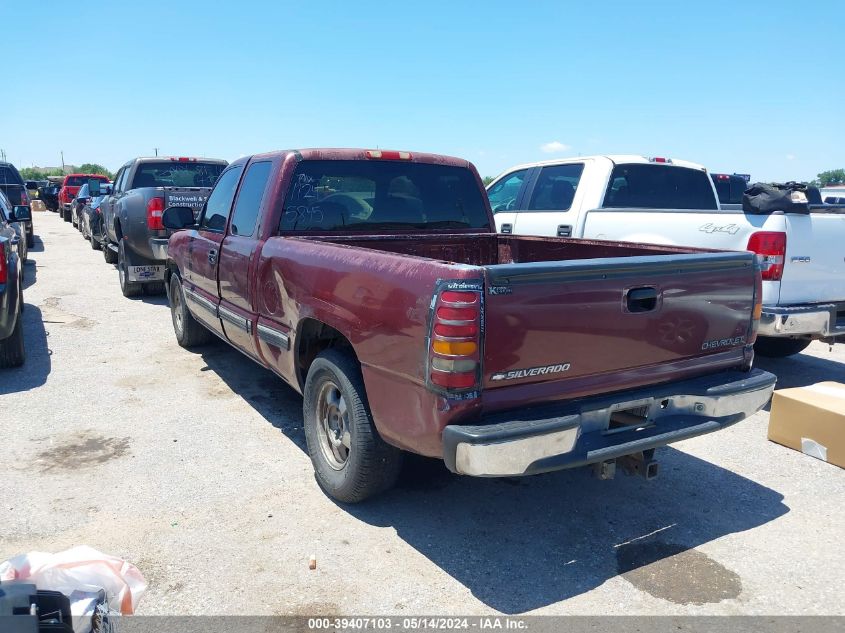
POLYGON ((0 6, 19 167, 320 146, 482 175, 594 153, 766 180, 845 167, 834 1, 37 4, 0 6))

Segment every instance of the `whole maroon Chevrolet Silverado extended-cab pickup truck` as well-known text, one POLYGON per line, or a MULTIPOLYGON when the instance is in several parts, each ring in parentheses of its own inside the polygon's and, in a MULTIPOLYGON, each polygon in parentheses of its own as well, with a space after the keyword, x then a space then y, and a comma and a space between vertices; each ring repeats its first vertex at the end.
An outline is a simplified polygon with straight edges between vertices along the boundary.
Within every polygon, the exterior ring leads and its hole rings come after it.
POLYGON ((465 160, 308 149, 241 158, 176 230, 180 345, 211 333, 304 396, 320 485, 346 502, 403 451, 465 475, 617 462, 758 411, 752 253, 500 235, 465 160), (179 230, 185 229, 185 230, 179 230))

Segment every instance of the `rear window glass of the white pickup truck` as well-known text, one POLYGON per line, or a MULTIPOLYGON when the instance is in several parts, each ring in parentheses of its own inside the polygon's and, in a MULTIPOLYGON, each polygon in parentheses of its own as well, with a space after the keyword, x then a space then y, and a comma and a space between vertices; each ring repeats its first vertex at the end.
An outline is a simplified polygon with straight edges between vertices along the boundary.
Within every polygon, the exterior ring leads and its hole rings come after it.
POLYGON ((671 165, 628 164, 613 168, 603 207, 716 209, 707 173, 671 165))

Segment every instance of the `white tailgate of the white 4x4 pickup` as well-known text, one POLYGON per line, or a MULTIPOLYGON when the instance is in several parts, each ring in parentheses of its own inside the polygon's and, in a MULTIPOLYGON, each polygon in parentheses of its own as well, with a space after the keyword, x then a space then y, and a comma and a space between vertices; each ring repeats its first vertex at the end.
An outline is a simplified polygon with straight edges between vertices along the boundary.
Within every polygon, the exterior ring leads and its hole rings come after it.
POLYGON ((780 305, 845 301, 845 214, 786 216, 780 305))

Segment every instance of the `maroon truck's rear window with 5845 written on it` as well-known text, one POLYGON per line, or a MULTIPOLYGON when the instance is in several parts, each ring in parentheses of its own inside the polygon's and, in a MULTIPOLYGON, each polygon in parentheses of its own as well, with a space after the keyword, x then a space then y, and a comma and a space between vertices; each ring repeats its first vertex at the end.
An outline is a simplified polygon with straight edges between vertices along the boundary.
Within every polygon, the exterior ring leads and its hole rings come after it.
POLYGON ((381 160, 302 161, 282 231, 489 229, 484 194, 464 167, 381 160))

